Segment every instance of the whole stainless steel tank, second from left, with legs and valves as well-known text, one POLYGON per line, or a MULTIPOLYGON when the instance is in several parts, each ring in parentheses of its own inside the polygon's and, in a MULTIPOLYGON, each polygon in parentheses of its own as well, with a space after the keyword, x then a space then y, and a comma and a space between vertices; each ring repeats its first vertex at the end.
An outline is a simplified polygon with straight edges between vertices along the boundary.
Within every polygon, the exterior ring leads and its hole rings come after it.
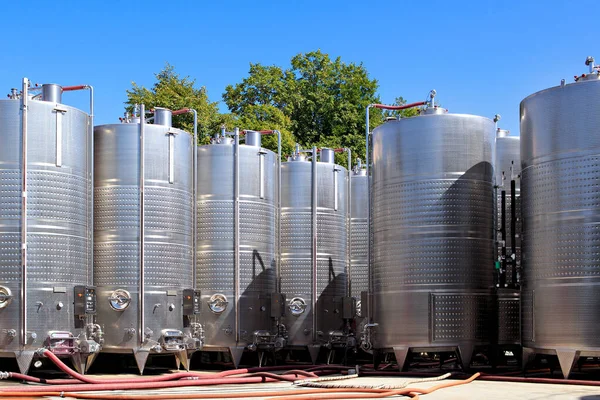
MULTIPOLYGON (((140 371, 151 353, 188 367, 194 322, 194 137, 140 115, 96 126, 94 282, 103 351, 133 353, 140 371)), ((199 303, 198 303, 199 304, 199 303)))

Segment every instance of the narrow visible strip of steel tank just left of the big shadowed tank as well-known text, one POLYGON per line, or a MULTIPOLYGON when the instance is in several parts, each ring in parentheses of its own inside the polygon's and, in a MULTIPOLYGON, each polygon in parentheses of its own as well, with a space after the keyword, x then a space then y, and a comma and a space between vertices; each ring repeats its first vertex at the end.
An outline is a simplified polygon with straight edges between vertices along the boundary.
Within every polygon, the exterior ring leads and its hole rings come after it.
MULTIPOLYGON (((369 290, 369 263, 368 263, 368 221, 369 221, 369 180, 366 170, 353 171, 352 179, 352 207, 350 211, 351 235, 351 296, 360 300, 360 293, 369 290)), ((364 310, 366 311, 366 310, 364 310)))

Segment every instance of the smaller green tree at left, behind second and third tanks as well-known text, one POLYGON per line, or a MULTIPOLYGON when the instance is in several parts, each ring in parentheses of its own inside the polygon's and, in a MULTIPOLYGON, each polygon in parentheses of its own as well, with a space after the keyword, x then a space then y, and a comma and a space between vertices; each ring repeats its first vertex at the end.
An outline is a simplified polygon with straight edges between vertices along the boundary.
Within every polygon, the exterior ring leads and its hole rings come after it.
MULTIPOLYGON (((145 104, 146 109, 166 107, 171 110, 193 108, 198 113, 198 141, 206 144, 210 136, 220 130, 220 126, 235 121, 230 114, 219 113, 216 102, 208 98, 206 88, 196 88, 196 80, 189 76, 180 77, 172 65, 166 64, 156 76, 156 83, 151 89, 132 82, 132 88, 127 90, 126 110, 132 111, 134 104, 145 104)), ((193 132, 193 116, 183 114, 173 118, 173 126, 188 132, 193 132)))

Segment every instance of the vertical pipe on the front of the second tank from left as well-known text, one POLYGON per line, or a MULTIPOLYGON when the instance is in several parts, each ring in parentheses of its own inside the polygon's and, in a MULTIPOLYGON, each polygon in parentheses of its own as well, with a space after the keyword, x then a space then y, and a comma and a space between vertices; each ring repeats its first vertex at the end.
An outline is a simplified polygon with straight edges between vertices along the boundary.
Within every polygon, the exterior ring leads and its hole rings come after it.
POLYGON ((146 108, 144 106, 144 104, 140 104, 140 165, 139 165, 139 186, 140 186, 140 250, 139 250, 139 257, 140 257, 140 283, 139 283, 139 294, 138 294, 138 310, 140 313, 140 317, 138 319, 139 321, 139 341, 140 344, 144 344, 144 329, 145 329, 145 325, 146 325, 146 320, 145 320, 145 291, 146 291, 146 287, 145 287, 145 260, 144 260, 144 256, 145 256, 145 251, 144 251, 144 245, 145 245, 145 240, 144 240, 144 236, 145 236, 145 229, 144 229, 144 224, 145 224, 145 215, 144 215, 144 177, 145 177, 145 170, 144 170, 144 163, 145 163, 145 150, 144 150, 144 125, 145 125, 145 118, 146 117, 146 108))

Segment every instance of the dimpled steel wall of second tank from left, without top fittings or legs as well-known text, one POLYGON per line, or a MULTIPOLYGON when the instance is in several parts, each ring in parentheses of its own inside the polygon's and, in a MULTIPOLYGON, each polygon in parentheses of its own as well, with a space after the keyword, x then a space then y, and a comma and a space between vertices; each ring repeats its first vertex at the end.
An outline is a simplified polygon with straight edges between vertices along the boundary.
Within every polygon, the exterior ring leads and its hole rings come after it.
MULTIPOLYGON (((183 330, 183 289, 193 276, 193 138, 187 132, 145 125, 145 322, 150 339, 162 329, 183 330), (169 133, 170 132, 170 133, 169 133), (173 183, 169 183, 169 136, 174 135, 173 183), (174 305, 173 310, 170 306, 174 305)), ((100 125, 95 134, 94 282, 103 350, 139 346, 140 128, 137 123, 100 125), (108 301, 116 289, 131 293, 122 312, 108 301), (110 329, 109 329, 110 328, 110 329)))

